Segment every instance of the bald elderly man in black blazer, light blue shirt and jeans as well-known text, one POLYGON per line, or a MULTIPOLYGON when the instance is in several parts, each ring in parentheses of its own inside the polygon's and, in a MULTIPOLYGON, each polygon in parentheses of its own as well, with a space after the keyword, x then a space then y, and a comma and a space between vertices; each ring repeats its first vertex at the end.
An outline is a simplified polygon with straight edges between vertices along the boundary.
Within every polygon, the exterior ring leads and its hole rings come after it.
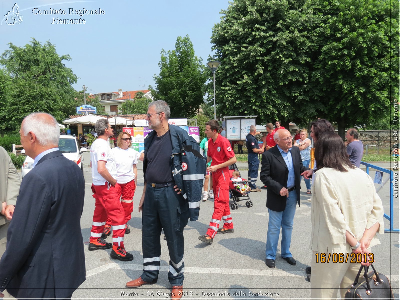
POLYGON ((298 147, 292 147, 292 136, 288 130, 275 132, 274 141, 276 147, 262 154, 260 171, 260 180, 268 186, 266 265, 270 268, 275 268, 281 227, 281 256, 289 264, 296 264, 289 250, 290 240, 296 204, 300 206, 300 174, 308 170, 302 164, 298 147))

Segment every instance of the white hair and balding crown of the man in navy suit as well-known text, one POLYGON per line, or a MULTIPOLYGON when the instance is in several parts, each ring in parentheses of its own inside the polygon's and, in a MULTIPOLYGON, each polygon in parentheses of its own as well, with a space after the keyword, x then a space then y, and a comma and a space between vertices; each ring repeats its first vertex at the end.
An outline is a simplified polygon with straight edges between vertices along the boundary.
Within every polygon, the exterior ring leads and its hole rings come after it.
POLYGON ((60 126, 56 119, 46 114, 49 118, 43 118, 44 112, 33 112, 24 118, 22 132, 25 136, 32 131, 38 143, 42 146, 58 145, 60 139, 60 126), (50 122, 49 122, 50 120, 50 122))

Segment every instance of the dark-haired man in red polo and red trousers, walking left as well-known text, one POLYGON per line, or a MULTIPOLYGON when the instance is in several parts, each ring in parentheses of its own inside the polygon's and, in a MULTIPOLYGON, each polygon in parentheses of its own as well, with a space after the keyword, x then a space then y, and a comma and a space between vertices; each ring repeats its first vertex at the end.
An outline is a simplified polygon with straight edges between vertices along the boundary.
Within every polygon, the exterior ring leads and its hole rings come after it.
POLYGON ((212 172, 214 213, 207 233, 204 236, 199 236, 199 240, 208 244, 212 244, 215 234, 233 233, 232 216, 229 209, 228 167, 236 162, 236 156, 230 142, 218 134, 218 129, 218 121, 211 120, 206 122, 204 133, 210 139, 208 140, 207 162, 212 160, 211 166, 207 168, 207 171, 212 172), (219 228, 221 218, 224 226, 219 228))

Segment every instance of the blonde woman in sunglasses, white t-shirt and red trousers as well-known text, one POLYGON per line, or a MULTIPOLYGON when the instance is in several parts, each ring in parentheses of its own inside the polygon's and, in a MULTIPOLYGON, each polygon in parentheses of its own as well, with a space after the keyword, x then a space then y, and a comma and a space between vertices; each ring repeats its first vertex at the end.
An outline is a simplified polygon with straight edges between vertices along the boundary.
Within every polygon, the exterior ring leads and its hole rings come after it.
MULTIPOLYGON (((130 233, 128 221, 130 214, 133 211, 133 196, 136 190, 136 182, 138 177, 138 164, 139 153, 130 148, 132 145, 132 137, 128 132, 121 132, 117 138, 117 147, 112 148, 111 151, 115 157, 115 164, 117 167, 117 195, 121 198, 122 208, 125 212, 125 234, 130 233)), ((106 226, 104 227, 103 238, 110 235, 111 219, 107 218, 106 226)))

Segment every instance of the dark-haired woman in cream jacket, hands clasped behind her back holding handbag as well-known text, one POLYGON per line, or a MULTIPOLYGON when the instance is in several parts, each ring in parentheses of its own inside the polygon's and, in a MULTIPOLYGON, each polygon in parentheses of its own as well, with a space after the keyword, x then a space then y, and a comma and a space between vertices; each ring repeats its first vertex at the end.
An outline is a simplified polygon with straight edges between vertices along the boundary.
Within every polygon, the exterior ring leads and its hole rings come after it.
POLYGON ((372 179, 350 163, 336 133, 318 136, 315 160, 311 298, 336 300, 338 288, 344 298, 360 269, 350 258, 367 266, 373 261, 370 248, 380 244, 376 233, 384 233, 383 206, 372 179))

